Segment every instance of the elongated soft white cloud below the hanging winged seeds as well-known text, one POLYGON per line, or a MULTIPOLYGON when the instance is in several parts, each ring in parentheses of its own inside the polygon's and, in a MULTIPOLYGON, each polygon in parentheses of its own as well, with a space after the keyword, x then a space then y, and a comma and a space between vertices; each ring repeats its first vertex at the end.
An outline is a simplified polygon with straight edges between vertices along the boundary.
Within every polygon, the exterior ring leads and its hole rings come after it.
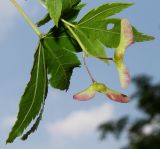
POLYGON ((77 111, 55 123, 47 124, 47 132, 53 136, 79 137, 94 132, 99 124, 110 120, 113 107, 101 105, 90 110, 77 111))

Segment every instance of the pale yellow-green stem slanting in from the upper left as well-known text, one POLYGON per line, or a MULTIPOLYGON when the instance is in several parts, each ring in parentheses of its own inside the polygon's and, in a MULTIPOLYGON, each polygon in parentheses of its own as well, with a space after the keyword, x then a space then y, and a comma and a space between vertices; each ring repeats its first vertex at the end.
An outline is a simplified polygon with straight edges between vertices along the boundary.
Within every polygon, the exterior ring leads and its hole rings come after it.
POLYGON ((11 3, 17 8, 17 10, 19 11, 19 13, 23 16, 23 18, 28 22, 28 24, 32 27, 32 29, 35 31, 35 33, 41 37, 42 33, 41 31, 38 29, 38 27, 32 22, 32 20, 25 14, 25 12, 23 11, 23 9, 18 5, 18 3, 16 2, 16 0, 10 0, 11 3))

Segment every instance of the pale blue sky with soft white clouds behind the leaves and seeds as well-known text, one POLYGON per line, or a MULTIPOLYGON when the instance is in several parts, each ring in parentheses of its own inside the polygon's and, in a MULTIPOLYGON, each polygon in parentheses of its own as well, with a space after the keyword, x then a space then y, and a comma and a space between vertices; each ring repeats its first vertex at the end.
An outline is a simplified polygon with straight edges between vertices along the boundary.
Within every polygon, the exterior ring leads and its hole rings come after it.
MULTIPOLYGON (((132 76, 149 74, 155 82, 160 81, 160 19, 159 0, 114 0, 118 2, 134 2, 135 5, 117 16, 128 18, 139 31, 156 37, 156 40, 145 43, 136 43, 127 49, 125 62, 132 76)), ((18 1, 20 2, 20 0, 18 1)), ((111 0, 83 0, 88 5, 81 12, 81 16, 90 8, 111 0)), ((34 22, 38 21, 45 10, 37 1, 20 2, 27 14, 34 22)), ((139 116, 135 111, 135 103, 114 103, 102 95, 89 102, 75 102, 72 95, 87 87, 90 80, 83 68, 76 69, 68 91, 60 92, 49 89, 46 100, 43 121, 38 131, 22 142, 17 139, 14 144, 5 145, 5 139, 11 129, 18 112, 18 103, 33 62, 33 54, 38 38, 30 26, 18 14, 9 1, 0 0, 0 148, 2 149, 118 149, 127 142, 124 137, 116 141, 112 136, 106 141, 99 141, 96 127, 99 123, 116 119, 122 115, 139 116)), ((49 27, 51 24, 48 24, 49 27)), ((47 27, 42 27, 46 31, 47 27)), ((108 49, 113 54, 113 49, 108 49)), ((128 95, 133 93, 131 84, 127 90, 120 88, 118 74, 115 66, 89 59, 88 65, 99 82, 104 82, 111 88, 122 91, 128 95)))

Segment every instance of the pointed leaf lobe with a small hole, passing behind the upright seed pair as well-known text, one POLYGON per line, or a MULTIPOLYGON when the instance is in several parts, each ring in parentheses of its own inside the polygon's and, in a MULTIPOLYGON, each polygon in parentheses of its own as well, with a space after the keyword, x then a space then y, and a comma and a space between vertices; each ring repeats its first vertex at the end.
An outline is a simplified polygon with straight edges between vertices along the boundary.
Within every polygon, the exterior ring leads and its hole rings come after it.
MULTIPOLYGON (((99 39, 106 47, 116 48, 120 42, 121 36, 121 19, 104 19, 104 20, 94 20, 85 24, 78 24, 77 28, 85 32, 89 38, 99 39), (111 29, 108 26, 112 25, 111 29)), ((133 27, 134 41, 144 42, 153 40, 154 37, 145 35, 144 33, 138 32, 135 27, 133 27)))

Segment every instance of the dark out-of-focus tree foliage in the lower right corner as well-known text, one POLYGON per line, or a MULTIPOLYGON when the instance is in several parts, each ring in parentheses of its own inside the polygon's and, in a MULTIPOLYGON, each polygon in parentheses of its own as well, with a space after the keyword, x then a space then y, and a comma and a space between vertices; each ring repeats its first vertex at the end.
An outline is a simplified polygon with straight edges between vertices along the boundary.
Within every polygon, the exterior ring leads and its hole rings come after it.
POLYGON ((132 95, 137 99, 137 108, 143 117, 131 120, 124 116, 118 120, 101 124, 98 130, 104 140, 109 133, 118 139, 127 132, 128 145, 123 149, 160 149, 160 83, 154 84, 149 76, 138 76, 133 79, 136 91, 132 95))

